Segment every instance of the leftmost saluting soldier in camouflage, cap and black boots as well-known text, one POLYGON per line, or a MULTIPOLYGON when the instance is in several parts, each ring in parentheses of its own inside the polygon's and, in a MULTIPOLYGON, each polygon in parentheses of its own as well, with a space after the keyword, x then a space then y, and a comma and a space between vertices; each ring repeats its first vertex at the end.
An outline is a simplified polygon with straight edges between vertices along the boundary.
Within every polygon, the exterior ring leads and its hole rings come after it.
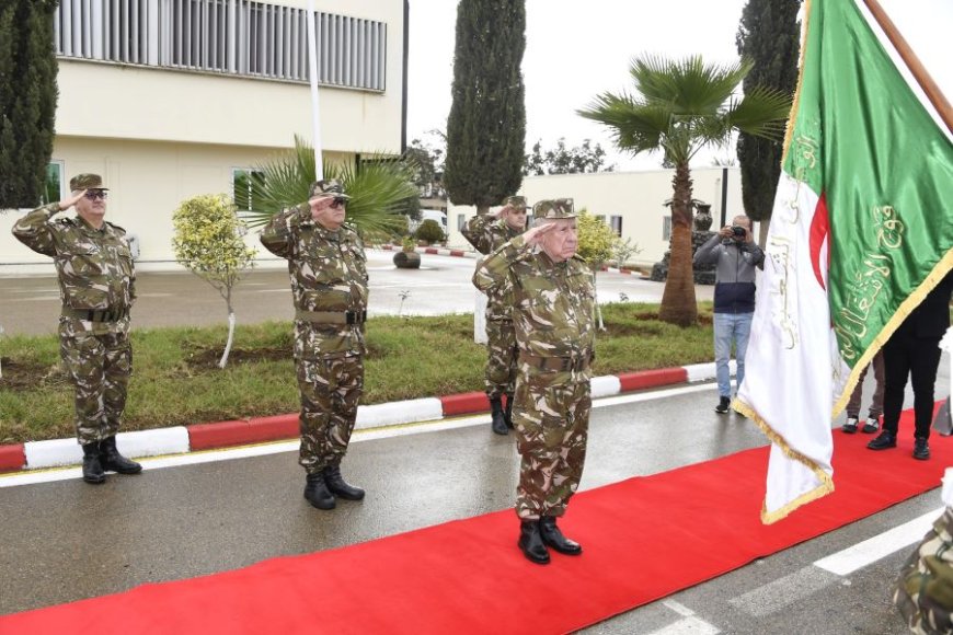
POLYGON ((62 310, 59 349, 76 389, 77 439, 83 448, 83 481, 103 483, 105 471, 138 474, 142 466, 116 449, 133 372, 129 310, 136 274, 126 230, 104 220, 108 189, 99 174, 79 174, 71 194, 34 209, 13 226, 13 235, 51 256, 62 310), (53 217, 76 206, 74 218, 53 217))

